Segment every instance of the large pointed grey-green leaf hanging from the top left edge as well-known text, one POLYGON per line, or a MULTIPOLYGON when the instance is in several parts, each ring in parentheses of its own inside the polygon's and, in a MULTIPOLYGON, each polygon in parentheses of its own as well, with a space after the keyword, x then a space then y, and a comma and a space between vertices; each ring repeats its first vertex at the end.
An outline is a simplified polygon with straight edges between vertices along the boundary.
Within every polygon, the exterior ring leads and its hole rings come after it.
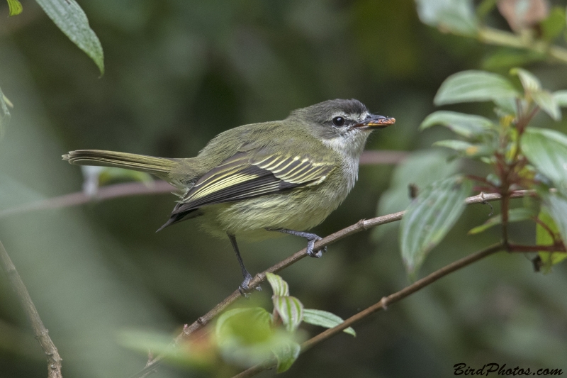
POLYGON ((35 0, 47 16, 72 42, 89 55, 104 74, 104 55, 89 19, 75 0, 35 0))

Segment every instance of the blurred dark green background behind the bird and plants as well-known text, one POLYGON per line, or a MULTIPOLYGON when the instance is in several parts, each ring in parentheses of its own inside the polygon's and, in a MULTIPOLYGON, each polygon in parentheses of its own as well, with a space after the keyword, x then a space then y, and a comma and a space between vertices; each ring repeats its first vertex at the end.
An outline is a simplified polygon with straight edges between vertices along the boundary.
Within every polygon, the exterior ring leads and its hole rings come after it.
MULTIPOLYGON (((15 106, 0 142, 0 211, 80 191, 79 167, 60 159, 68 150, 189 157, 223 130, 335 98, 356 98, 396 118, 371 136, 368 150, 415 155, 393 182, 393 165, 361 167, 349 198, 315 233, 403 210, 410 182, 426 184, 445 169, 483 172, 430 150, 449 131, 417 127, 449 74, 483 67, 507 74, 510 66, 494 58, 505 49, 425 26, 412 0, 80 3, 103 45, 103 77, 35 2, 23 1, 23 13, 12 18, 0 3, 0 87, 15 106)), ((488 18, 507 29, 497 12, 488 18)), ((547 89, 567 88, 564 65, 526 67, 547 89)), ((488 104, 447 109, 493 116, 488 104)), ((541 114, 534 123, 566 130, 565 121, 541 114)), ((128 377, 147 357, 121 346, 120 332, 174 336, 240 283, 228 239, 201 235, 191 221, 154 232, 174 199, 133 196, 0 218, 0 240, 60 350, 64 377, 128 377)), ((497 230, 466 235, 489 213, 469 206, 422 275, 497 241, 497 230)), ((529 223, 511 230, 518 242, 533 243, 529 223)), ((253 274, 303 247, 292 236, 240 245, 253 274)), ((281 275, 305 306, 343 318, 408 284, 395 225, 342 240, 322 259, 303 259, 281 275)), ((526 256, 500 253, 367 318, 354 327, 357 338, 318 345, 282 376, 449 377, 459 362, 566 371, 566 287, 565 264, 544 275, 526 256)), ((269 311, 270 295, 266 284, 254 294, 269 311)), ((162 367, 155 377, 239 371, 162 367)), ((0 377, 45 377, 45 357, 4 274, 0 377)))

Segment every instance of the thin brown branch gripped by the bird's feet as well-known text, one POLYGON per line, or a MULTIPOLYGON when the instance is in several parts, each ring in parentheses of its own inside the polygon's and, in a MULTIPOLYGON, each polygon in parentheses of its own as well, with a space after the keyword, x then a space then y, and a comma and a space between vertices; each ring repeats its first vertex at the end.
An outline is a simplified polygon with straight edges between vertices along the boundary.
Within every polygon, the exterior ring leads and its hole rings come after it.
MULTIPOLYGON (((510 198, 520 198, 523 196, 532 196, 532 195, 535 195, 534 190, 519 190, 519 191, 513 191, 510 194, 510 198)), ((465 200, 465 204, 482 204, 487 201, 497 201, 501 198, 502 197, 498 193, 490 193, 490 194, 481 193, 478 194, 477 196, 468 197, 465 200)), ((358 221, 352 226, 343 228, 342 230, 339 230, 336 233, 332 233, 331 235, 322 238, 317 243, 315 243, 314 250, 319 250, 327 245, 330 245, 343 238, 346 238, 349 235, 353 235, 354 233, 359 233, 360 231, 368 230, 371 227, 379 226, 385 223, 399 221, 404 213, 405 211, 400 211, 398 213, 392 213, 386 216, 378 216, 376 218, 363 219, 361 221, 358 221)), ((305 256, 307 256, 307 251, 306 248, 303 248, 303 250, 294 253, 285 260, 282 260, 276 265, 266 269, 264 272, 256 274, 254 279, 252 279, 252 281, 249 282, 249 287, 252 289, 254 287, 257 287, 260 283, 264 282, 264 280, 266 279, 267 272, 271 272, 271 273, 279 272, 280 270, 303 259, 303 257, 305 256)), ((203 326, 206 326, 206 324, 208 324, 211 320, 213 320, 213 318, 218 316, 218 314, 224 311, 225 308, 227 308, 232 303, 237 301, 237 299, 240 299, 240 297, 241 297, 240 291, 238 290, 233 291, 232 294, 230 294, 230 296, 226 297, 222 302, 220 302, 220 304, 216 305, 208 313, 198 318, 193 324, 191 324, 190 326, 185 326, 183 331, 179 335, 177 335, 177 337, 169 345, 167 350, 164 353, 162 353, 162 355, 159 355, 155 357, 154 360, 149 361, 144 369, 140 370, 140 372, 137 372, 130 378, 147 377, 147 375, 152 374, 152 372, 155 372, 155 368, 157 367, 157 365, 163 362, 164 355, 167 355, 169 350, 176 348, 176 346, 179 345, 179 343, 181 343, 183 340, 188 340, 189 335, 191 335, 191 333, 193 333, 194 331, 198 330, 203 326)))

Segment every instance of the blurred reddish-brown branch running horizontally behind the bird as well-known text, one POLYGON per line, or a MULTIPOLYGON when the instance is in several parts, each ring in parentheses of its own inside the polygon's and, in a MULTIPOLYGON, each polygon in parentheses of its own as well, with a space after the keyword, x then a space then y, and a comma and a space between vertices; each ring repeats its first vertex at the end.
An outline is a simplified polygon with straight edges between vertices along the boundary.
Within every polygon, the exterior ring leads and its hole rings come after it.
MULTIPOLYGON (((398 164, 409 155, 405 151, 364 151, 360 157, 361 165, 376 165, 376 164, 398 164)), ((16 206, 11 209, 0 211, 0 218, 4 216, 11 216, 18 213, 27 213, 28 211, 37 211, 45 209, 59 209, 68 206, 77 206, 88 204, 91 201, 105 201, 107 199, 125 197, 125 196, 139 196, 145 194, 162 194, 174 191, 174 187, 162 180, 156 180, 148 185, 142 182, 128 182, 125 184, 113 184, 106 187, 100 187, 94 196, 89 196, 83 191, 75 193, 64 194, 50 199, 43 199, 35 201, 31 204, 16 206)))

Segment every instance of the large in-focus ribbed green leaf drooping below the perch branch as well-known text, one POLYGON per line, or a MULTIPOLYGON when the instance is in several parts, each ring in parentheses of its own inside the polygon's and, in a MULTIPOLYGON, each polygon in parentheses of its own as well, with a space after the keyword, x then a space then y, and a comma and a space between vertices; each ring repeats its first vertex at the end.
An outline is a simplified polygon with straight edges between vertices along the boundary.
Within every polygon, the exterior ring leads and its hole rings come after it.
POLYGON ((400 224, 400 249, 410 275, 459 219, 471 188, 470 180, 449 177, 423 189, 408 206, 400 224))

